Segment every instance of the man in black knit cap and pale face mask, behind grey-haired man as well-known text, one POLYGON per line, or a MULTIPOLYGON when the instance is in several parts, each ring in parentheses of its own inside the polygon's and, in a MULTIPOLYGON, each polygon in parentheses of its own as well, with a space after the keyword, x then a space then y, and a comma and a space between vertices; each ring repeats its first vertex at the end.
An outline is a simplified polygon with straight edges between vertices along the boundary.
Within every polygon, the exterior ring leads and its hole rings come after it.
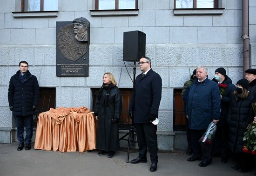
POLYGON ((232 80, 226 75, 226 70, 222 67, 215 70, 215 76, 212 81, 218 83, 220 88, 221 96, 221 113, 219 122, 217 123, 216 136, 213 141, 213 152, 220 153, 221 162, 228 162, 228 126, 227 126, 227 115, 229 111, 230 98, 233 92, 236 90, 232 80), (226 85, 226 88, 222 86, 226 85), (222 89, 222 90, 221 90, 222 89))

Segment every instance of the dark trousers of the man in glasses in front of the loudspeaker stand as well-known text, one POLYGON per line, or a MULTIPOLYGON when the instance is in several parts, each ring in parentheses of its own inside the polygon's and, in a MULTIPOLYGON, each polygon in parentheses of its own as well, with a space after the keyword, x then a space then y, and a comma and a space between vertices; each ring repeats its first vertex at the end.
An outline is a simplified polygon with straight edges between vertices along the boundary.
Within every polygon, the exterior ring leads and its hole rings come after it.
POLYGON ((157 135, 156 125, 153 124, 135 124, 136 134, 138 139, 139 146, 139 157, 146 158, 147 157, 147 148, 150 154, 151 163, 158 162, 157 156, 157 135))

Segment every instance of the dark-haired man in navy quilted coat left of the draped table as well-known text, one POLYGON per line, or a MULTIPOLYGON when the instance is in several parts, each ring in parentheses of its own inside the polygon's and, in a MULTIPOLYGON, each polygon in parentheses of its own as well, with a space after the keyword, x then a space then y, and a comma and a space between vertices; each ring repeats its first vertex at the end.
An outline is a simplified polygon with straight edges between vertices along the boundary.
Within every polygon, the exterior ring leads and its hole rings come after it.
POLYGON ((8 89, 8 101, 10 110, 16 119, 17 136, 20 145, 17 148, 21 151, 26 142, 26 150, 31 149, 33 135, 33 114, 39 101, 39 85, 37 78, 28 71, 28 63, 21 61, 19 71, 10 79, 8 89), (26 139, 24 140, 24 124, 26 126, 26 139))

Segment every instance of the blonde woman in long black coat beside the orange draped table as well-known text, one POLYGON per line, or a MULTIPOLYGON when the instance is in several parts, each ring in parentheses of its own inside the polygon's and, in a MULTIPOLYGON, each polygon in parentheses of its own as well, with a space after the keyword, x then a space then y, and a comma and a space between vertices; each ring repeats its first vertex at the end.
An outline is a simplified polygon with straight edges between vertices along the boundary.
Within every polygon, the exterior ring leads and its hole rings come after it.
POLYGON ((95 105, 95 117, 98 120, 96 148, 98 155, 108 154, 114 157, 119 150, 118 121, 122 111, 122 96, 116 87, 112 73, 103 75, 103 84, 99 90, 95 105))

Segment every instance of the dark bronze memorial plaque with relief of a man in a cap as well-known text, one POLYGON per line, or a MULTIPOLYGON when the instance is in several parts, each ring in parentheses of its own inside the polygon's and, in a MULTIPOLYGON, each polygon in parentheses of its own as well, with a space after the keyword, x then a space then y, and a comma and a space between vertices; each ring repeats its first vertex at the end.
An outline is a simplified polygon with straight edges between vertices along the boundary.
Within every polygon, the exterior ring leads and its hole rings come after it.
POLYGON ((56 22, 56 75, 89 75, 90 23, 85 18, 56 22))

